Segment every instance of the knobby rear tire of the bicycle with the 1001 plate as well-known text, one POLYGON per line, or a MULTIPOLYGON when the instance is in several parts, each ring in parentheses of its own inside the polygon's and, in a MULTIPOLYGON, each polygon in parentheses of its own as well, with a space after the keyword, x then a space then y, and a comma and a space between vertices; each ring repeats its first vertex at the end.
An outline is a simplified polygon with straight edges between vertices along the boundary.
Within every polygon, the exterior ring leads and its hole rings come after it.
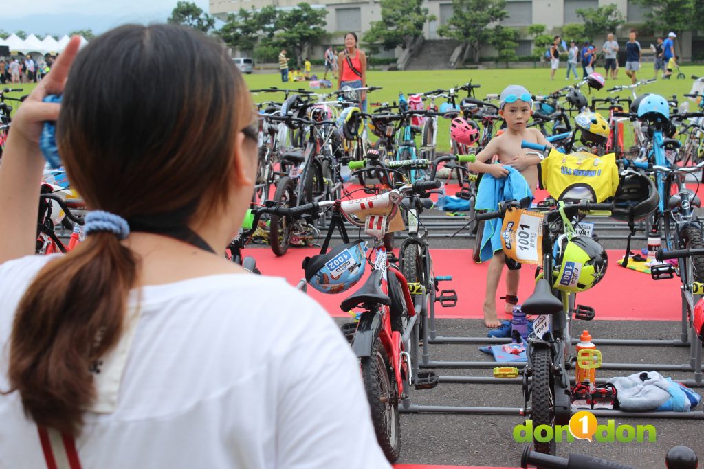
MULTIPOLYGON (((533 382, 531 390, 530 417, 533 428, 548 425, 555 428, 555 399, 551 385, 552 358, 550 349, 539 347, 533 349, 533 382)), ((555 454, 555 439, 550 442, 535 441, 535 451, 543 454, 555 454)))

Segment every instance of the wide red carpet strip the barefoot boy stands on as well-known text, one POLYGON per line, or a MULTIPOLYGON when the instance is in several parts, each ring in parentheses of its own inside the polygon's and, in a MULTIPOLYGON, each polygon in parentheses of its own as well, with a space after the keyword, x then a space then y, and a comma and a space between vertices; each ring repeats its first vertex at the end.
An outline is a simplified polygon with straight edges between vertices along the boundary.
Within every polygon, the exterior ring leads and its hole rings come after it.
MULTIPOLYGON (((247 249, 245 255, 256 257, 257 265, 264 274, 284 276, 292 285, 303 278, 301 261, 303 257, 318 254, 318 248, 291 248, 284 257, 276 257, 269 248, 247 249)), ((679 321, 681 319, 679 279, 653 281, 647 274, 623 269, 616 261, 623 250, 609 250, 609 268, 605 278, 592 290, 577 296, 579 304, 596 310, 596 319, 629 319, 679 321)), ((442 308, 437 304, 436 316, 451 319, 481 319, 482 302, 486 285, 488 263, 474 264, 469 249, 432 250, 434 271, 438 276, 452 276, 453 281, 442 282, 441 289, 457 290, 458 304, 454 308, 442 308)), ((367 266, 367 271, 369 267, 367 266)), ((521 269, 521 282, 518 292, 520 301, 532 293, 535 271, 529 266, 521 269)), ((358 285, 361 285, 359 283, 358 285)), ((351 295, 351 291, 338 295, 325 295, 308 288, 311 297, 318 300, 332 316, 346 316, 339 304, 351 295)), ((503 283, 499 285, 498 296, 504 294, 503 283)), ((501 304, 502 300, 498 300, 501 304)))

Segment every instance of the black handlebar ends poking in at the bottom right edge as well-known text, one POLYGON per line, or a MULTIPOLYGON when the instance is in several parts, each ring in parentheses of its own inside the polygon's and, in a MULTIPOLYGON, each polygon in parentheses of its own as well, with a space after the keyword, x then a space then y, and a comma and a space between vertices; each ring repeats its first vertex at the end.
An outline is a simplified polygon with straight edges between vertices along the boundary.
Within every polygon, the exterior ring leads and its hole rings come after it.
MULTIPOLYGON (((527 447, 521 456, 521 467, 526 469, 528 465, 534 465, 538 469, 636 469, 630 465, 583 454, 570 453, 567 458, 558 458, 531 451, 527 447)), ((697 455, 687 446, 673 446, 665 455, 667 469, 697 469, 697 466, 697 455)))

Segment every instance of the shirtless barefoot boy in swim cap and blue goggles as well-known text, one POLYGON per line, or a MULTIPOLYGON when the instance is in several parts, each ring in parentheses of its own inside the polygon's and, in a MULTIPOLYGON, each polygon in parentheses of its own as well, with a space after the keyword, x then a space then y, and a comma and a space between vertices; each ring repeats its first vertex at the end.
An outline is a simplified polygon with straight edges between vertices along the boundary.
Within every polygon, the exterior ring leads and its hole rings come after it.
MULTIPOLYGON (((506 122, 503 134, 491 139, 489 144, 479 153, 477 161, 472 163, 472 169, 477 172, 491 174, 496 179, 501 179, 509 174, 507 166, 513 167, 525 178, 530 188, 534 191, 538 186, 538 169, 541 159, 537 156, 527 156, 526 150, 521 148, 521 141, 540 143, 552 147, 538 129, 527 129, 530 120, 533 100, 531 94, 520 85, 507 86, 501 92, 499 114, 506 122), (498 157, 497 164, 491 164, 494 156, 498 157)), ((481 186, 480 186, 481 188, 481 186)), ((505 265, 503 250, 494 246, 494 256, 491 257, 489 273, 486 277, 486 295, 484 297, 484 324, 489 328, 501 326, 496 314, 496 289, 501 280, 501 272, 505 265)), ((506 304, 504 312, 511 314, 513 305, 518 298, 519 271, 509 270, 506 274, 506 304)))

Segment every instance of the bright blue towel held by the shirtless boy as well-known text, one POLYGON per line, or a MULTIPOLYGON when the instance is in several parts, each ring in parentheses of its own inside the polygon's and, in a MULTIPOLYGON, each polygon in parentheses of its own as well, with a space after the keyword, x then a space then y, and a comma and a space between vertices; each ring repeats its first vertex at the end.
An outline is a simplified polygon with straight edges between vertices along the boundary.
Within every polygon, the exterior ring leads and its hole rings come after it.
MULTIPOLYGON (((484 174, 477 190, 477 203, 474 204, 476 210, 498 210, 498 203, 505 200, 533 200, 533 194, 526 179, 510 166, 508 175, 501 179, 496 179, 491 174, 484 174)), ((479 250, 479 260, 486 262, 494 257, 494 252, 500 251, 501 247, 501 219, 487 220, 484 222, 484 233, 482 234, 482 248, 479 250)))

